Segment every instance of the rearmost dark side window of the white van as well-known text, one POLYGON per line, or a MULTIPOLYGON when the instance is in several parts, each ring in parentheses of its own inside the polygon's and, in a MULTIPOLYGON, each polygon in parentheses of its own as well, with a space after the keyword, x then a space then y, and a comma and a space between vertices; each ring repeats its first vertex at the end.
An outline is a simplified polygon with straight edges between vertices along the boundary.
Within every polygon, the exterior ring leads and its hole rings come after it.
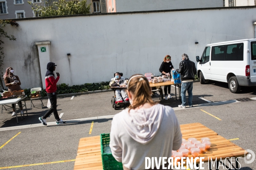
POLYGON ((244 60, 244 43, 230 44, 227 46, 226 61, 243 61, 244 60))

